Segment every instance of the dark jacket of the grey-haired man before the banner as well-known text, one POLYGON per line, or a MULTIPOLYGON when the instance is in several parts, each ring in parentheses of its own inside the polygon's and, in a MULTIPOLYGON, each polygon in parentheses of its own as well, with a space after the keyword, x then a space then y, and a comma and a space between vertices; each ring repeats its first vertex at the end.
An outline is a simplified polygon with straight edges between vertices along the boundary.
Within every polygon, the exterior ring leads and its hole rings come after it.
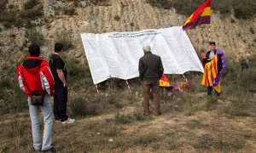
POLYGON ((140 79, 159 80, 164 72, 160 56, 148 52, 139 60, 140 79))

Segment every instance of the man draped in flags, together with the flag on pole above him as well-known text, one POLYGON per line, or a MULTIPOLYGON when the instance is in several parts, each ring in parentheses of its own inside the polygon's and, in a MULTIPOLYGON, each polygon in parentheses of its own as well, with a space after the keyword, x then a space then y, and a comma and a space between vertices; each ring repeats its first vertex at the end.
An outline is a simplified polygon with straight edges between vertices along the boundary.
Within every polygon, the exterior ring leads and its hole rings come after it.
MULTIPOLYGON (((191 14, 189 19, 183 25, 183 31, 188 31, 195 26, 203 24, 211 24, 211 0, 203 3, 201 7, 191 14)), ((216 95, 220 95, 220 77, 222 77, 225 69, 224 53, 216 49, 216 43, 210 42, 209 28, 209 51, 203 56, 202 63, 204 66, 204 74, 201 84, 207 87, 207 94, 212 95, 214 88, 216 95)))

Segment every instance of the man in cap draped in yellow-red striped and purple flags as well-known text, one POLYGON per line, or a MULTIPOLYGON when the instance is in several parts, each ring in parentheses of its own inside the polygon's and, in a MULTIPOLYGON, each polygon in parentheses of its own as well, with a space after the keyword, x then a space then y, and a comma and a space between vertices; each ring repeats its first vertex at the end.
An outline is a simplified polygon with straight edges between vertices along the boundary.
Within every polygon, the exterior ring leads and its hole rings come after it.
POLYGON ((220 77, 222 77, 225 69, 224 53, 216 49, 215 42, 209 42, 209 51, 204 54, 202 63, 204 66, 204 74, 201 84, 207 87, 207 94, 212 95, 212 87, 217 96, 220 95, 220 77))

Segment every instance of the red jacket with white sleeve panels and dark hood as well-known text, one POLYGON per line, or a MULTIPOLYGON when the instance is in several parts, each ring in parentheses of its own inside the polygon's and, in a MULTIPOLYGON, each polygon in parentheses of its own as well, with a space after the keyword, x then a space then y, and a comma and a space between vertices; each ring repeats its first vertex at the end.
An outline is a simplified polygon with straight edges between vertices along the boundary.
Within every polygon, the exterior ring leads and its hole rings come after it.
POLYGON ((18 67, 17 77, 20 88, 28 96, 30 96, 30 91, 49 95, 54 94, 54 78, 49 69, 49 63, 42 58, 28 56, 23 64, 18 67))

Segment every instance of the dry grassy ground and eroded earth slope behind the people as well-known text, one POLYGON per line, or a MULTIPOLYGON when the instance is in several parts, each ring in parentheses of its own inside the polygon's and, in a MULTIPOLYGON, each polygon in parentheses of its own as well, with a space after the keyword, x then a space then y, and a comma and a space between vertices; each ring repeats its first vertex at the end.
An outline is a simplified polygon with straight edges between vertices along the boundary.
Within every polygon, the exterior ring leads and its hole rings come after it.
MULTIPOLYGON (((201 74, 193 72, 185 74, 194 85, 192 90, 161 97, 162 116, 143 116, 137 79, 129 80, 131 94, 119 79, 102 82, 100 94, 96 94, 80 33, 182 26, 195 5, 204 0, 191 2, 1 0, 0 152, 33 152, 26 96, 15 78, 29 42, 40 44, 45 59, 53 53, 55 42, 66 48, 68 113, 77 122, 67 126, 54 123, 53 142, 58 152, 255 152, 253 0, 212 1, 212 40, 227 59, 219 99, 206 97, 201 74), (247 62, 247 70, 241 71, 241 61, 247 62), (63 130, 67 133, 61 133, 63 130)), ((201 56, 207 49, 208 25, 188 31, 188 35, 201 56)), ((180 76, 167 77, 174 85, 183 82, 180 76)))

